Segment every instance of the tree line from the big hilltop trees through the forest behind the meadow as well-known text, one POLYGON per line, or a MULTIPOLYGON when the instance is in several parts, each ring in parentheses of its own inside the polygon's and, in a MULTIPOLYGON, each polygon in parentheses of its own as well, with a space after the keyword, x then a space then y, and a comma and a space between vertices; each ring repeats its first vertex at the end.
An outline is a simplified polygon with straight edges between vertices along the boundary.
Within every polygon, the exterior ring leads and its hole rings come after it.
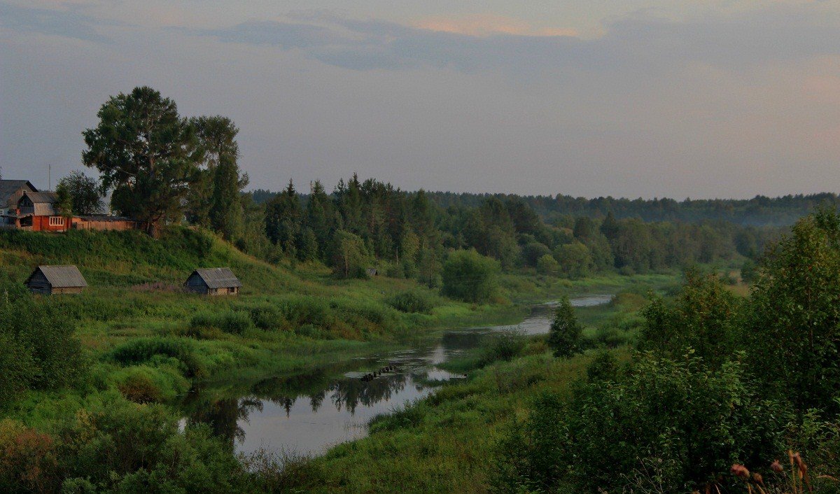
POLYGON ((621 200, 598 217, 591 213, 604 207, 600 200, 572 209, 576 215, 547 218, 535 197, 405 192, 355 175, 332 191, 314 181, 302 194, 289 181, 279 193, 244 193, 239 129, 229 118, 182 117, 150 87, 111 97, 98 117, 83 133, 82 153, 98 180, 81 173, 63 179, 62 210, 97 212, 109 194, 114 212, 144 221, 150 234, 165 223, 198 225, 265 260, 321 261, 338 276, 375 268, 438 286, 449 253, 458 250, 475 250, 504 270, 643 273, 754 257, 779 233, 720 220, 625 218, 632 209, 621 200))

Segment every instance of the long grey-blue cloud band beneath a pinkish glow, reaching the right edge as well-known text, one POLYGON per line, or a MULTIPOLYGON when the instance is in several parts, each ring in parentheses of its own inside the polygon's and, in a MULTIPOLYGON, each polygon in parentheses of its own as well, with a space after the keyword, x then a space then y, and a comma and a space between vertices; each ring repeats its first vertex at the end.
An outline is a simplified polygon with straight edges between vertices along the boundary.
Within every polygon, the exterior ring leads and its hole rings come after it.
POLYGON ((294 20, 196 32, 225 42, 297 49, 314 60, 358 71, 432 66, 523 75, 565 70, 651 74, 695 62, 738 67, 840 53, 840 15, 817 4, 681 21, 638 13, 607 24, 596 39, 489 15, 428 18, 414 26, 328 12, 297 14, 294 20))

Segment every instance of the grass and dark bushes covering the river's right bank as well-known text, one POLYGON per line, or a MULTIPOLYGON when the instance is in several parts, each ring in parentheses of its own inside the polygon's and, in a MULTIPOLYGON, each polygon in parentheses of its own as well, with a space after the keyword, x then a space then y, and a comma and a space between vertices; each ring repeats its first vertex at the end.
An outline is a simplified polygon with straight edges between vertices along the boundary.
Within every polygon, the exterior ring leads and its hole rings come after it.
POLYGON ((297 461, 289 485, 838 492, 840 216, 803 218, 758 271, 747 297, 688 272, 678 292, 644 302, 634 338, 617 344, 581 334, 561 306, 548 339, 454 363, 469 381, 297 461))

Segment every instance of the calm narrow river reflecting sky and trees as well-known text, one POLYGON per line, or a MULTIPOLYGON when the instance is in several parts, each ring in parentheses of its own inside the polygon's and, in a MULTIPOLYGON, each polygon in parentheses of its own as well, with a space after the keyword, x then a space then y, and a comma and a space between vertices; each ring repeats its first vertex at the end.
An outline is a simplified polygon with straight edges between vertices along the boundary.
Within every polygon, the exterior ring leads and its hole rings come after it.
MULTIPOLYGON (((574 307, 611 300, 610 295, 571 298, 574 307)), ((425 397, 444 381, 463 379, 438 365, 475 348, 487 334, 506 329, 548 333, 553 307, 550 302, 535 306, 519 324, 453 329, 417 348, 370 355, 302 376, 260 381, 239 396, 216 399, 194 393, 184 404, 186 421, 209 423, 237 452, 268 449, 318 455, 335 444, 364 437, 367 423, 376 415, 425 397), (396 370, 362 379, 386 366, 396 370)))

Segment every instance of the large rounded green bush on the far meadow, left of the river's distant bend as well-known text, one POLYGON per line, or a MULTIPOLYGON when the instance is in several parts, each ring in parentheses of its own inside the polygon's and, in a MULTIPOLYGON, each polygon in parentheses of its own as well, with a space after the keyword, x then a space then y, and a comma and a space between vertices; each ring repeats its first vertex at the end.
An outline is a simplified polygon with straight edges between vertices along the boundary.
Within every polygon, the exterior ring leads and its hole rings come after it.
POLYGON ((455 250, 449 254, 442 273, 442 292, 464 302, 487 302, 496 292, 496 260, 475 250, 455 250))

